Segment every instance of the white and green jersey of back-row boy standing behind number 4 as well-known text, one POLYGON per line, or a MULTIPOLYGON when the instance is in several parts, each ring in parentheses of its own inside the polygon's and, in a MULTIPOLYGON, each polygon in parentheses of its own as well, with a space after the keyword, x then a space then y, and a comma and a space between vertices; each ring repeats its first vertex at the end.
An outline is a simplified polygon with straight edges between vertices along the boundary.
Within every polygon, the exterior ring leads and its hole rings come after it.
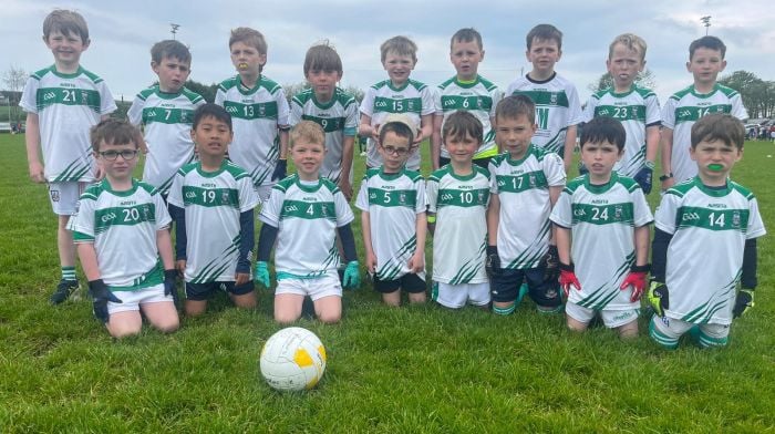
MULTIPOLYGON (((290 104, 290 125, 300 121, 312 121, 326 132, 326 158, 320 167, 320 176, 339 183, 342 173, 344 136, 355 136, 358 130, 358 101, 337 87, 328 103, 319 103, 311 89, 299 92, 290 104)), ((350 170, 352 183, 352 170, 350 170)))

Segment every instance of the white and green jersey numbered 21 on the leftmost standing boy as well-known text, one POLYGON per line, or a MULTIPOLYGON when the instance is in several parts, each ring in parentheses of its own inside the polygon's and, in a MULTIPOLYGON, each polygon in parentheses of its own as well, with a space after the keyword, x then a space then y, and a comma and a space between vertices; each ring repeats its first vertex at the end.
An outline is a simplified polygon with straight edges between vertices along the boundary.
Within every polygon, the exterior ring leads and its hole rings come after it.
POLYGON ((89 132, 103 115, 116 110, 102 79, 83 68, 62 74, 52 65, 30 75, 19 106, 38 115, 49 183, 94 180, 89 132))

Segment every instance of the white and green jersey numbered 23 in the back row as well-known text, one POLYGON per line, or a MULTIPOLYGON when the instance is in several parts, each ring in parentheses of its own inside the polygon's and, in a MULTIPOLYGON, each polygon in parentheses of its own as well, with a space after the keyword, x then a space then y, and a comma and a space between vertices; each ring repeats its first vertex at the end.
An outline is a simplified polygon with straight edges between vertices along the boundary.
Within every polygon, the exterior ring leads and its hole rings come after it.
POLYGON ((645 128, 659 126, 662 114, 657 94, 650 89, 632 86, 629 92, 616 93, 613 87, 592 94, 587 101, 581 122, 608 116, 621 122, 627 133, 624 156, 613 169, 619 175, 633 177, 645 163, 645 128))

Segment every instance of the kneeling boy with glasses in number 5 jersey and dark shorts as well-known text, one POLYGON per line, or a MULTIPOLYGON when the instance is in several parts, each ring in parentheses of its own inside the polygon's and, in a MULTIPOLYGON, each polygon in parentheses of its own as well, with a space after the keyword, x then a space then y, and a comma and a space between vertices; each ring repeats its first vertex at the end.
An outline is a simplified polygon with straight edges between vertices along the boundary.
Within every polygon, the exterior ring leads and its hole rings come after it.
POLYGON ((405 167, 416 135, 406 114, 389 114, 379 130, 382 166, 366 170, 355 206, 361 209, 366 269, 389 306, 425 302, 425 183, 405 167))

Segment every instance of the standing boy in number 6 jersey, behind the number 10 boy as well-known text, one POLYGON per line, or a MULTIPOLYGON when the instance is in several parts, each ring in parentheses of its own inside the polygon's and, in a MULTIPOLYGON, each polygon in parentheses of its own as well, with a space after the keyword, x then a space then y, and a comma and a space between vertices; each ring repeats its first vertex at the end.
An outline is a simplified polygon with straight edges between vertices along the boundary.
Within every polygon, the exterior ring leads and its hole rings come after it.
POLYGON ((497 155, 493 132, 495 106, 503 93, 492 82, 478 74, 479 62, 484 60, 482 34, 475 29, 461 29, 450 41, 450 61, 455 66, 455 76, 438 85, 433 118, 431 157, 433 169, 450 163, 447 148, 442 146, 442 130, 446 120, 457 111, 471 112, 482 124, 484 136, 474 154, 474 163, 487 168, 489 159, 497 155))

